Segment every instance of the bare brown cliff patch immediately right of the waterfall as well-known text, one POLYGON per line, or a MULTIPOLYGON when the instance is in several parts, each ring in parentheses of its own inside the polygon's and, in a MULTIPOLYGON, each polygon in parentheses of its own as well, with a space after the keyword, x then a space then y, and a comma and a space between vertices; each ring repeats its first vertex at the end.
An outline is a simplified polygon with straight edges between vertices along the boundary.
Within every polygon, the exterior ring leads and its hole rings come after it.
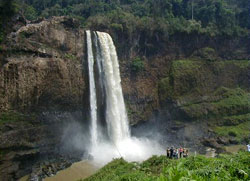
POLYGON ((165 75, 169 60, 166 57, 145 59, 144 69, 131 68, 132 60, 121 60, 123 94, 131 125, 150 120, 160 108, 158 96, 159 78, 165 75))

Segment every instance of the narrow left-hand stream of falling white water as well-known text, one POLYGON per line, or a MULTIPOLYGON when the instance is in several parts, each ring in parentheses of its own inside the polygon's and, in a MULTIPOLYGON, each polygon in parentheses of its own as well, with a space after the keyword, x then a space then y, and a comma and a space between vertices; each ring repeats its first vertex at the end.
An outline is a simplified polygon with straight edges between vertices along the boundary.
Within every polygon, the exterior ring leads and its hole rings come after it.
POLYGON ((94 56, 92 50, 91 32, 86 31, 87 35, 87 51, 88 51, 88 71, 89 71, 89 95, 90 95, 90 134, 91 143, 93 146, 97 145, 98 128, 97 128, 97 103, 96 103, 96 89, 94 77, 94 56))

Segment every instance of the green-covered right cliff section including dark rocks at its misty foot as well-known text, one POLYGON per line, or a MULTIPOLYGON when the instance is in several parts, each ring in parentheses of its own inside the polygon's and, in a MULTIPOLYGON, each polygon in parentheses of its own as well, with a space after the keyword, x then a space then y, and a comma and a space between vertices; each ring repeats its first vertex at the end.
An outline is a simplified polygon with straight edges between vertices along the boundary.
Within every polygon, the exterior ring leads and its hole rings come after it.
POLYGON ((167 72, 159 81, 159 102, 171 115, 175 140, 216 149, 248 143, 249 60, 176 60, 167 72))

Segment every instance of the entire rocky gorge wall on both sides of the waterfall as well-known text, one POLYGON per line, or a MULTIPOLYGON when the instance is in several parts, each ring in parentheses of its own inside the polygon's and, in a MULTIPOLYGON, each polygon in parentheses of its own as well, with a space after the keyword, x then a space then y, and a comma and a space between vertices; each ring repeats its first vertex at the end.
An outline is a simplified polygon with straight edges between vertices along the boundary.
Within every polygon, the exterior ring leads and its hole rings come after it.
MULTIPOLYGON (((166 135, 165 144, 197 142, 217 148, 249 140, 246 40, 222 38, 217 44, 198 35, 175 35, 160 42, 157 33, 151 40, 142 33, 127 42, 127 37, 110 33, 131 125, 157 125, 166 135)), ((32 165, 39 155, 55 152, 65 125, 88 120, 84 42, 84 29, 67 17, 17 21, 9 33, 0 50, 0 178, 29 173, 27 158, 32 165)))

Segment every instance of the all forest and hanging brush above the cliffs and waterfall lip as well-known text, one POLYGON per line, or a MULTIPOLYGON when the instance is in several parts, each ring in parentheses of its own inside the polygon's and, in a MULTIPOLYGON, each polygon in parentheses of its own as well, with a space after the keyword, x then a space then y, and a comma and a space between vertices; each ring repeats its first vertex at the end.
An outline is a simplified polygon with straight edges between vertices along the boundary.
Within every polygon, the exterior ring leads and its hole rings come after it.
MULTIPOLYGON (((28 20, 69 16, 85 29, 109 32, 119 42, 118 52, 129 56, 163 54, 176 42, 184 48, 176 53, 185 56, 193 54, 212 61, 247 57, 245 41, 242 47, 231 46, 235 51, 223 49, 224 43, 246 40, 249 35, 250 3, 246 0, 12 0, 7 5, 5 1, 0 0, 0 10, 5 10, 0 11, 4 20, 1 27, 10 22, 5 14, 17 10, 28 20), (201 48, 204 40, 209 47, 201 48), (214 41, 220 48, 209 43, 214 41)), ((10 31, 2 28, 2 32, 10 31)), ((4 38, 0 33, 0 41, 4 38)))

